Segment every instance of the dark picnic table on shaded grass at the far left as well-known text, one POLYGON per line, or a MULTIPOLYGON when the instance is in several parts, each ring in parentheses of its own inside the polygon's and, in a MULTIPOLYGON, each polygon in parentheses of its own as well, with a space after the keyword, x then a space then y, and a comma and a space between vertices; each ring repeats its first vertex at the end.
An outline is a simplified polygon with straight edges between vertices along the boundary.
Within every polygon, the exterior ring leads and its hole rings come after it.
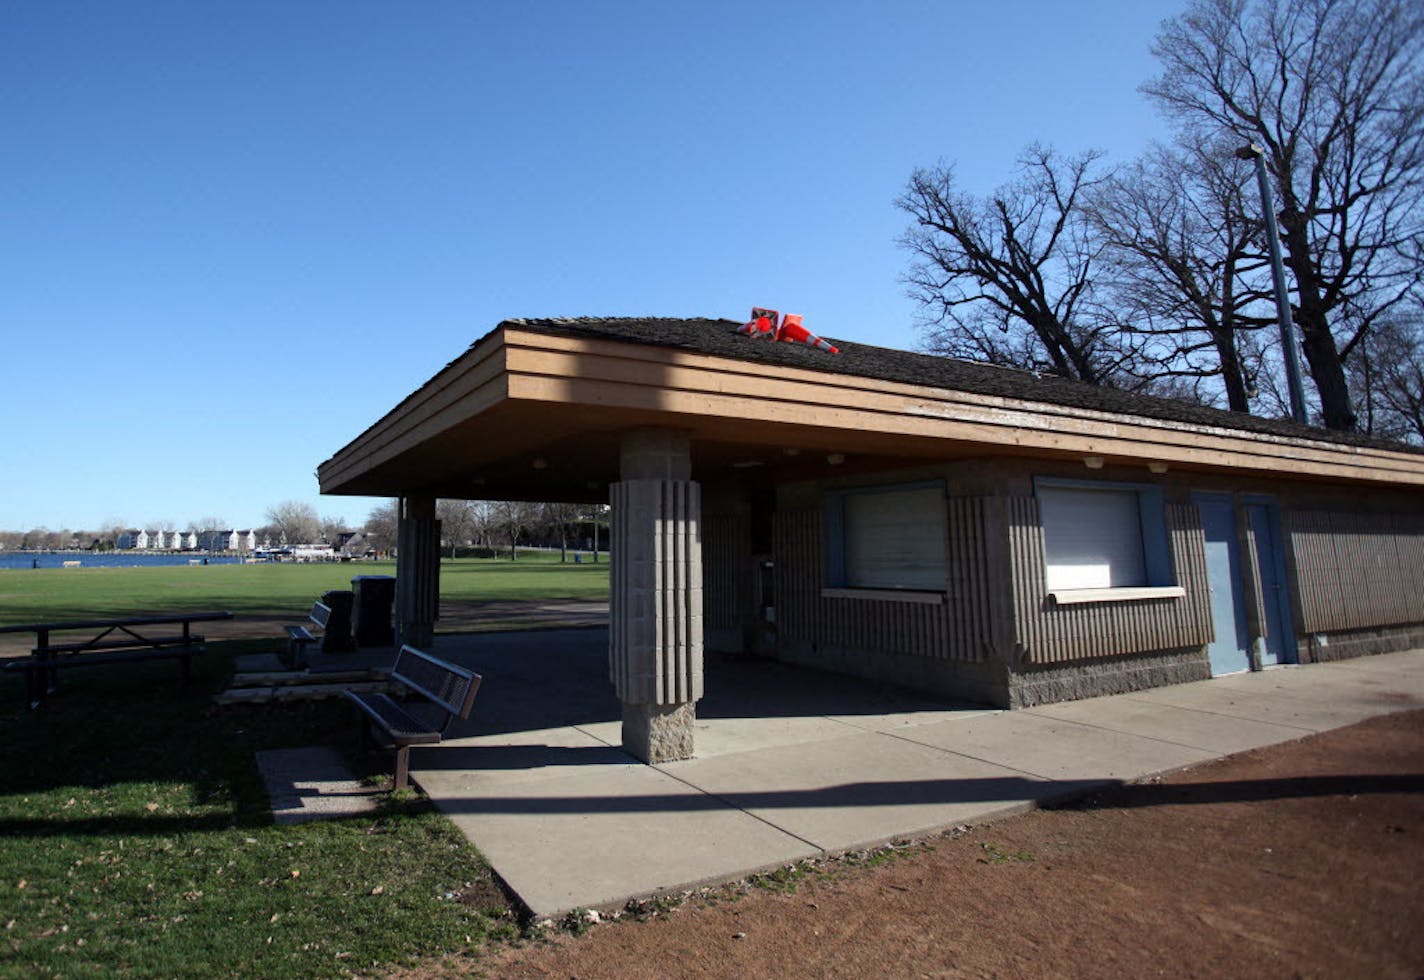
POLYGON ((192 677, 191 661, 204 650, 202 637, 192 632, 192 624, 231 618, 231 612, 188 612, 0 627, 0 632, 36 634, 30 655, 6 662, 4 669, 24 671, 26 701, 31 709, 41 707, 58 689, 58 671, 70 667, 177 660, 182 664, 182 681, 187 685, 192 677), (168 632, 155 631, 155 627, 181 628, 168 632), (51 638, 56 632, 77 631, 88 631, 91 635, 66 642, 51 638))

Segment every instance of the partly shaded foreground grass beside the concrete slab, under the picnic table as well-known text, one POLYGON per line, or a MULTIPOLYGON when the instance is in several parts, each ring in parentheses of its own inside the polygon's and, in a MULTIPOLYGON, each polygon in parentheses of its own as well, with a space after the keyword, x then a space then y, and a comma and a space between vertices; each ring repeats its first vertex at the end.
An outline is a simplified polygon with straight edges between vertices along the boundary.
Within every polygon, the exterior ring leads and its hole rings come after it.
POLYGON ((71 669, 43 712, 0 682, 0 974, 343 976, 517 932, 422 798, 271 823, 253 754, 353 722, 336 702, 215 707, 232 657, 268 648, 209 644, 188 692, 168 662, 71 669))

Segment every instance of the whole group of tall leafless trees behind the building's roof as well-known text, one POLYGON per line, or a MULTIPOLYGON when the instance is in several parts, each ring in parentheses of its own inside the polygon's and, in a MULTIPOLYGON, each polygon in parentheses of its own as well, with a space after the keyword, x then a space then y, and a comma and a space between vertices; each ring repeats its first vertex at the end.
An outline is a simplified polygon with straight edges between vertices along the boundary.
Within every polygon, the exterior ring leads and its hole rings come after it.
POLYGON ((1314 420, 1424 440, 1424 6, 1190 0, 1152 50, 1169 145, 1106 167, 1034 144, 987 195, 911 175, 926 346, 1287 415, 1255 147, 1314 420))

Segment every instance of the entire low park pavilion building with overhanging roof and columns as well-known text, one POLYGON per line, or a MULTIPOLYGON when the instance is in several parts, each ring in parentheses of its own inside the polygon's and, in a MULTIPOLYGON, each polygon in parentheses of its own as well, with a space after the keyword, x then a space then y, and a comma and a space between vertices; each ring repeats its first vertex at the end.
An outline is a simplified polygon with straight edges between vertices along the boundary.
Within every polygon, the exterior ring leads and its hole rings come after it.
MULTIPOLYGON (((703 651, 1004 708, 1424 647, 1424 453, 715 319, 506 320, 319 469, 400 500, 611 503, 624 745, 692 754, 703 651)), ((849 682, 849 681, 847 681, 849 682)))

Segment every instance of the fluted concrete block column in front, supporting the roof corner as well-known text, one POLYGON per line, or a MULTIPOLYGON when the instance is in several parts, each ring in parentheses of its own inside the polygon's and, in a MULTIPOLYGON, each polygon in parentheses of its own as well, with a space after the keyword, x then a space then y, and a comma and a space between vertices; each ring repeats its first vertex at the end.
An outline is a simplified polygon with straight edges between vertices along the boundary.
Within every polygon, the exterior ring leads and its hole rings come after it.
POLYGON ((612 503, 608 671, 624 748, 644 762, 692 755, 702 697, 702 491, 688 437, 624 436, 612 503))

